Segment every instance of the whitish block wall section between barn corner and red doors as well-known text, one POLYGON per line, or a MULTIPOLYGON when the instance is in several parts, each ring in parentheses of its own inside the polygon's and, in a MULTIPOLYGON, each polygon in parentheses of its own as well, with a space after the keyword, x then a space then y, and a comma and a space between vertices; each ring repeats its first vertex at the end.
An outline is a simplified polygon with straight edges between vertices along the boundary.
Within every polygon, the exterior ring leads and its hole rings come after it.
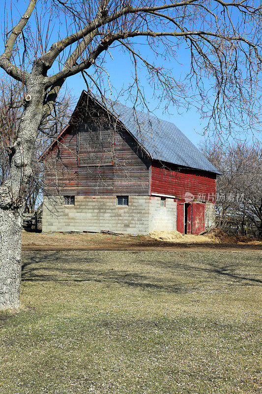
POLYGON ((166 198, 166 206, 160 206, 160 197, 149 197, 149 232, 176 230, 176 202, 166 198))

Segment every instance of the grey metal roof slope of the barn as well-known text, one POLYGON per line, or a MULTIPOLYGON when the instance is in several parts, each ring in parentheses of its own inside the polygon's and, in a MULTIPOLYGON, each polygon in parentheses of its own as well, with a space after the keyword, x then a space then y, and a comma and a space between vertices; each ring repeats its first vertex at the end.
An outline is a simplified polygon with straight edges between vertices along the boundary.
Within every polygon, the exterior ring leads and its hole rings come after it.
POLYGON ((95 99, 124 124, 152 159, 220 173, 173 123, 116 101, 95 99))

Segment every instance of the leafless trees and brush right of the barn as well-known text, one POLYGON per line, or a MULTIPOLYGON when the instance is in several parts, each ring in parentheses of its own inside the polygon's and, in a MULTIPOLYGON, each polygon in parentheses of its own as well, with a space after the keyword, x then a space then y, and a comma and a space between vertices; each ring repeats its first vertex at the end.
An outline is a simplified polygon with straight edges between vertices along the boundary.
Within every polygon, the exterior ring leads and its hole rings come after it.
POLYGON ((217 179, 217 225, 225 229, 229 221, 239 223, 244 234, 247 222, 262 237, 262 146, 219 141, 201 146, 206 158, 221 172, 217 179))

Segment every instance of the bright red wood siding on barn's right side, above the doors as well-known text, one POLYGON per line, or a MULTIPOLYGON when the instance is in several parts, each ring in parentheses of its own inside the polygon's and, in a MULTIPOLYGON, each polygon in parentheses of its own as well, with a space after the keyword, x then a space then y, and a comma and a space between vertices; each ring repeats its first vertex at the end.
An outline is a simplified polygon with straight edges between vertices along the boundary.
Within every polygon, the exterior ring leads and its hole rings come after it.
POLYGON ((196 169, 178 169, 175 165, 153 163, 151 167, 151 194, 164 194, 184 199, 189 192, 198 199, 213 202, 216 194, 216 174, 205 173, 196 169), (209 198, 208 198, 209 197, 209 198))

